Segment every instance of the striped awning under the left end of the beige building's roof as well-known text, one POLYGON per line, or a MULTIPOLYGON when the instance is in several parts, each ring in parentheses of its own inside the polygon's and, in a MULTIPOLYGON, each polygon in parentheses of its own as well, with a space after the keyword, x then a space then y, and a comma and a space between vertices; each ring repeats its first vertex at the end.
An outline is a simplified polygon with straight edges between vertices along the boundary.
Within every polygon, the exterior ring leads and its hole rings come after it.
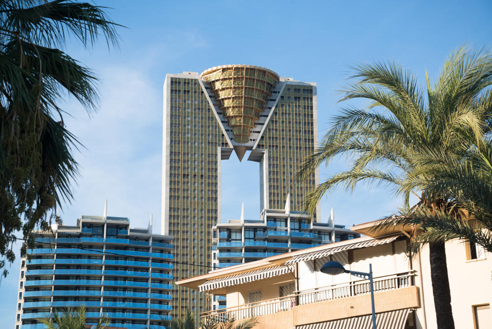
POLYGON ((291 268, 285 265, 267 267, 267 268, 254 270, 252 272, 245 272, 241 274, 232 275, 229 277, 213 279, 199 285, 198 288, 200 289, 200 292, 204 292, 212 289, 228 287, 231 285, 248 283, 261 279, 276 277, 290 272, 291 272, 291 268))

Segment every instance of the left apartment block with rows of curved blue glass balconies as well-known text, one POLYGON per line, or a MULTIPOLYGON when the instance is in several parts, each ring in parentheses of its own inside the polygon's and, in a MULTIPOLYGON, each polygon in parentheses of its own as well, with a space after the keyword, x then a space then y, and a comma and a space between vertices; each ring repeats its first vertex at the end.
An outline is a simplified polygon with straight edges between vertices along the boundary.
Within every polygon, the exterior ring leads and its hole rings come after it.
POLYGON ((41 329, 39 319, 65 307, 86 307, 87 324, 165 329, 171 319, 172 238, 130 228, 125 217, 81 216, 75 226, 34 231, 23 258, 15 329, 41 329))

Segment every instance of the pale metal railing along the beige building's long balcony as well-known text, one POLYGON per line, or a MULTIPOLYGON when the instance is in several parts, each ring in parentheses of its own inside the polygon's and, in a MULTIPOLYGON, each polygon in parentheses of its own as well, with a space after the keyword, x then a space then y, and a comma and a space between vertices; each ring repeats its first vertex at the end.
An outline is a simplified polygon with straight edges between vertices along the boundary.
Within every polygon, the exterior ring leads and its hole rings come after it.
MULTIPOLYGON (((382 276, 374 279, 374 291, 381 292, 413 286, 414 272, 405 272, 400 274, 382 276)), ((300 291, 294 295, 263 300, 256 303, 249 303, 240 306, 234 306, 216 311, 204 312, 201 319, 205 323, 211 319, 245 319, 261 315, 273 314, 281 311, 289 311, 294 306, 318 303, 325 300, 338 299, 344 297, 358 296, 370 293, 370 284, 368 280, 334 284, 308 291, 300 291)))

